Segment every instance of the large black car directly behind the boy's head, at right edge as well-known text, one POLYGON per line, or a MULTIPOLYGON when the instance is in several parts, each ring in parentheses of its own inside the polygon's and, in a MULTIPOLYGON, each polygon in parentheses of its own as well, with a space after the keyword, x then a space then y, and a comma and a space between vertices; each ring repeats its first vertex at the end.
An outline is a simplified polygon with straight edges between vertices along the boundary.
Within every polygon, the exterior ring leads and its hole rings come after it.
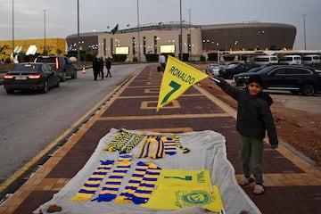
POLYGON ((287 90, 293 94, 314 95, 321 89, 321 70, 300 65, 273 65, 258 72, 235 75, 235 86, 244 87, 251 75, 259 75, 268 90, 287 90))

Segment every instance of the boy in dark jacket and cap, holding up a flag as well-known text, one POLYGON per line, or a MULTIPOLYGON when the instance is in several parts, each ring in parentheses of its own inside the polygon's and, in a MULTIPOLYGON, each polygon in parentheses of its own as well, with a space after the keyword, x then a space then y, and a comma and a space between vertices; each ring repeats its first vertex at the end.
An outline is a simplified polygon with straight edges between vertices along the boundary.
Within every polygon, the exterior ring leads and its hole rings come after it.
POLYGON ((253 193, 264 193, 262 159, 266 131, 271 148, 276 149, 278 145, 276 125, 270 110, 273 100, 263 92, 263 81, 258 75, 248 79, 245 89, 231 86, 223 78, 214 79, 227 95, 237 101, 236 129, 241 136, 240 162, 244 174, 239 185, 255 182, 253 193))

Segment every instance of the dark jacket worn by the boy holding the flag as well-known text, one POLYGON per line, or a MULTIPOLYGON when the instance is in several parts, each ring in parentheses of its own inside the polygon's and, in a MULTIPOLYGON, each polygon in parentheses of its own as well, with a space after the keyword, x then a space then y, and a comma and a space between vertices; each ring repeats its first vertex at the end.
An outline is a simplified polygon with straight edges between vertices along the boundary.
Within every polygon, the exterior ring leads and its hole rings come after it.
POLYGON ((251 96, 248 89, 231 86, 223 78, 219 80, 218 86, 237 101, 237 131, 242 136, 263 139, 268 130, 269 144, 277 145, 276 125, 269 108, 272 98, 265 92, 251 96))

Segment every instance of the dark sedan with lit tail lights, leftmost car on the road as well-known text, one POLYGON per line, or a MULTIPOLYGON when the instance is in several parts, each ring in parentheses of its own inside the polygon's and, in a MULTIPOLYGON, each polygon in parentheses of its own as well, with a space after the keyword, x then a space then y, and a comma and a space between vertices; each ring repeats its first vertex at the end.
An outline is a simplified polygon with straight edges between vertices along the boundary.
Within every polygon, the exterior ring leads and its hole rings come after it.
POLYGON ((7 94, 13 94, 14 90, 26 89, 46 93, 54 86, 60 86, 60 78, 58 73, 46 63, 19 63, 4 75, 4 89, 7 94))

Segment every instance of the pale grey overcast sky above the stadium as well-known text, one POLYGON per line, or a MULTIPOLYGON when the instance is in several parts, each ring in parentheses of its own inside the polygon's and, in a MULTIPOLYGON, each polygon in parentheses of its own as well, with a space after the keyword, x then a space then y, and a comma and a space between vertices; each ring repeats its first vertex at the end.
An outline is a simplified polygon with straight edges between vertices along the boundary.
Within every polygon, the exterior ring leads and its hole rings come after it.
POLYGON ((78 12, 84 33, 110 31, 117 23, 134 28, 138 19, 140 25, 180 21, 180 8, 182 20, 195 25, 291 24, 297 29, 294 50, 303 50, 305 41, 308 50, 321 50, 320 0, 0 0, 0 41, 12 40, 12 26, 14 39, 77 34, 78 12))

